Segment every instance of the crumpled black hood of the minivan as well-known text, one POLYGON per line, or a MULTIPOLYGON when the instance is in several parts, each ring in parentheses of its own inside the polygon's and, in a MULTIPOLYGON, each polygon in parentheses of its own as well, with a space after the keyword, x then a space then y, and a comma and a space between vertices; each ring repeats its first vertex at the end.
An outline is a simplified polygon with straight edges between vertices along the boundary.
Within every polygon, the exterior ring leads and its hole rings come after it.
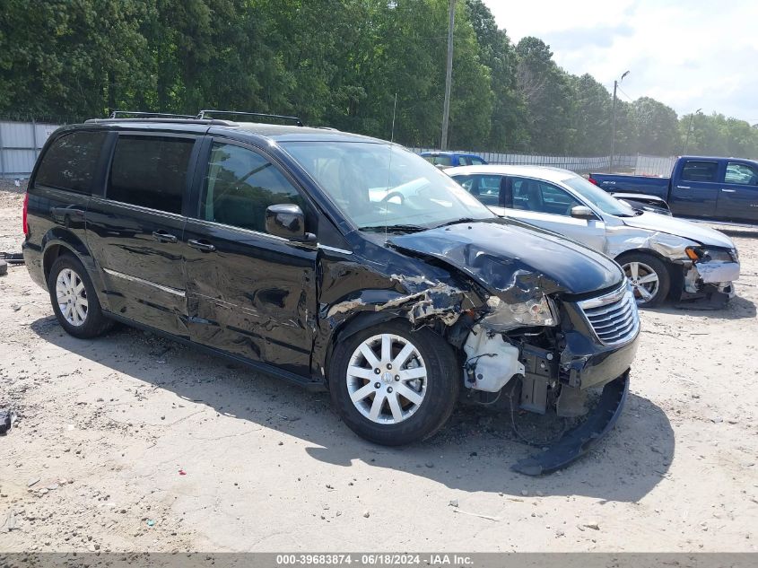
POLYGON ((553 232, 506 219, 398 235, 389 243, 439 258, 510 303, 540 292, 597 292, 620 285, 624 278, 610 258, 553 232))

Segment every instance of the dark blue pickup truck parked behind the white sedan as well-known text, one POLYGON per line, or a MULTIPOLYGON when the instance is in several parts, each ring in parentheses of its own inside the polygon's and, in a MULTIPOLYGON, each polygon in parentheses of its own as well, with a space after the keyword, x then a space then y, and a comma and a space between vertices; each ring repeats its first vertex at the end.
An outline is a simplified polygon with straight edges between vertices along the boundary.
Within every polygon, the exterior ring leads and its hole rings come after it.
POLYGON ((750 160, 682 156, 670 178, 591 173, 589 181, 631 201, 663 199, 679 217, 758 222, 758 162, 750 160))

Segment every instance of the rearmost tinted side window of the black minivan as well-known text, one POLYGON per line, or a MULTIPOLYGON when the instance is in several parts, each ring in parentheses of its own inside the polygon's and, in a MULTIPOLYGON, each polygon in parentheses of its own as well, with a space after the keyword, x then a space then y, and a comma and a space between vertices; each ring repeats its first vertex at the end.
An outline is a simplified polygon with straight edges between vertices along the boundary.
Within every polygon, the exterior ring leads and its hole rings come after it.
POLYGON ((51 188, 89 192, 105 141, 104 132, 74 132, 50 145, 39 164, 36 182, 51 188))

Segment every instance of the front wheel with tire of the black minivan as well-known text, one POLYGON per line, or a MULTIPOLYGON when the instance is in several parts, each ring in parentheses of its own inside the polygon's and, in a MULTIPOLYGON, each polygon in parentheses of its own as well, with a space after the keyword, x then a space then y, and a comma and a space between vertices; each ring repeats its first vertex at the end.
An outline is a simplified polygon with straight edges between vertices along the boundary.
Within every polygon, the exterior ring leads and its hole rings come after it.
POLYGON ((440 336, 398 319, 335 346, 329 390, 354 433, 400 446, 431 437, 448 421, 461 380, 458 367, 440 336))

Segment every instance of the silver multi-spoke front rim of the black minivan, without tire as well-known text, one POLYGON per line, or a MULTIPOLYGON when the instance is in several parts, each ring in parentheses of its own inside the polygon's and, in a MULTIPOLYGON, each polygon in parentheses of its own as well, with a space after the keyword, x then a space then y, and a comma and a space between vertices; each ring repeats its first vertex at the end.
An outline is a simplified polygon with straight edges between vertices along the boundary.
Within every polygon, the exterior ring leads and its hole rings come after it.
POLYGON ((355 348, 345 380, 358 412, 375 424, 399 424, 423 404, 427 369, 414 344, 385 333, 355 348))

